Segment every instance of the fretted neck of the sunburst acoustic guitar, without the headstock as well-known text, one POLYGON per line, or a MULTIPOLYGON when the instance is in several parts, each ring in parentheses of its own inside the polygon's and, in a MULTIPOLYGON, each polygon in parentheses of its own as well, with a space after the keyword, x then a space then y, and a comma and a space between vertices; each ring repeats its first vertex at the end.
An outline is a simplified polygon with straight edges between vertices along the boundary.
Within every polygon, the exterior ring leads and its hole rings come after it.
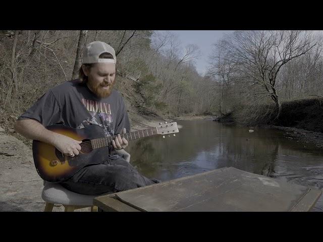
MULTIPOLYGON (((137 140, 140 138, 153 136, 157 134, 158 134, 157 128, 152 128, 147 130, 134 131, 126 134, 120 134, 120 136, 121 138, 125 138, 127 141, 132 141, 132 140, 137 140)), ((112 145, 112 141, 116 137, 117 135, 91 140, 92 149, 98 149, 98 148, 110 146, 112 145)))

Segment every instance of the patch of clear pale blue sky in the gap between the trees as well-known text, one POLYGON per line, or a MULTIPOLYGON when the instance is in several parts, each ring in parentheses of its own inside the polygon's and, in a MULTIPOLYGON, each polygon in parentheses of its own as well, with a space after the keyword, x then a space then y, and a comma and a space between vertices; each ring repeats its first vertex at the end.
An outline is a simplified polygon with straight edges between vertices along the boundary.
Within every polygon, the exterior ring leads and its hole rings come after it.
MULTIPOLYGON (((221 39, 224 34, 232 33, 233 30, 168 30, 178 36, 184 51, 188 44, 196 44, 201 55, 196 59, 196 70, 200 75, 204 75, 207 69, 207 56, 212 51, 212 44, 221 39)), ((158 30, 166 32, 166 30, 158 30)))

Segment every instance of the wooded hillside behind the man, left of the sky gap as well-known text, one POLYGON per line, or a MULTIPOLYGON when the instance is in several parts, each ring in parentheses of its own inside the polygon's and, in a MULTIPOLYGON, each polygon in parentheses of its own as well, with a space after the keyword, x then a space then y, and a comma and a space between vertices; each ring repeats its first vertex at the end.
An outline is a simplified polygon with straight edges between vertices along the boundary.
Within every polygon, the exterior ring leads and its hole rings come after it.
POLYGON ((202 80, 193 65, 198 47, 188 45, 182 50, 174 34, 8 30, 1 32, 0 39, 0 122, 14 122, 49 88, 77 78, 82 49, 94 40, 115 48, 120 92, 135 90, 144 100, 140 105, 160 115, 202 111, 194 88, 202 80))

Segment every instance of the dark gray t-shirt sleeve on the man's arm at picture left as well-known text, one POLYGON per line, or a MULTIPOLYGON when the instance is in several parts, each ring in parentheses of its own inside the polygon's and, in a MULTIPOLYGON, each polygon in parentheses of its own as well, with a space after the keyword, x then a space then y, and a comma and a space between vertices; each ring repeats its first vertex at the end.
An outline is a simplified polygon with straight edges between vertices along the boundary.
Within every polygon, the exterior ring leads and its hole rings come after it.
POLYGON ((61 111, 53 93, 49 90, 42 95, 36 103, 20 115, 18 120, 35 119, 43 126, 54 125, 61 122, 61 111))

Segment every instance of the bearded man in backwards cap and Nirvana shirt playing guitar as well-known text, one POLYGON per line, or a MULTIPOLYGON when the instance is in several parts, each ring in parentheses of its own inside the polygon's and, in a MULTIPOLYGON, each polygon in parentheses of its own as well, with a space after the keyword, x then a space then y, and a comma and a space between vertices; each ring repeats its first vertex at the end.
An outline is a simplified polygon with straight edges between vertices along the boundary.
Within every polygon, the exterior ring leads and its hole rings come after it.
POLYGON ((55 146, 65 155, 79 155, 81 141, 45 129, 48 125, 65 125, 83 129, 98 125, 104 136, 117 135, 109 148, 109 157, 91 161, 71 178, 62 181, 66 189, 86 195, 119 192, 158 183, 138 173, 120 155, 128 141, 121 133, 130 130, 124 100, 113 90, 116 79, 116 54, 108 44, 95 41, 83 49, 79 79, 49 89, 15 124, 26 138, 55 146))

